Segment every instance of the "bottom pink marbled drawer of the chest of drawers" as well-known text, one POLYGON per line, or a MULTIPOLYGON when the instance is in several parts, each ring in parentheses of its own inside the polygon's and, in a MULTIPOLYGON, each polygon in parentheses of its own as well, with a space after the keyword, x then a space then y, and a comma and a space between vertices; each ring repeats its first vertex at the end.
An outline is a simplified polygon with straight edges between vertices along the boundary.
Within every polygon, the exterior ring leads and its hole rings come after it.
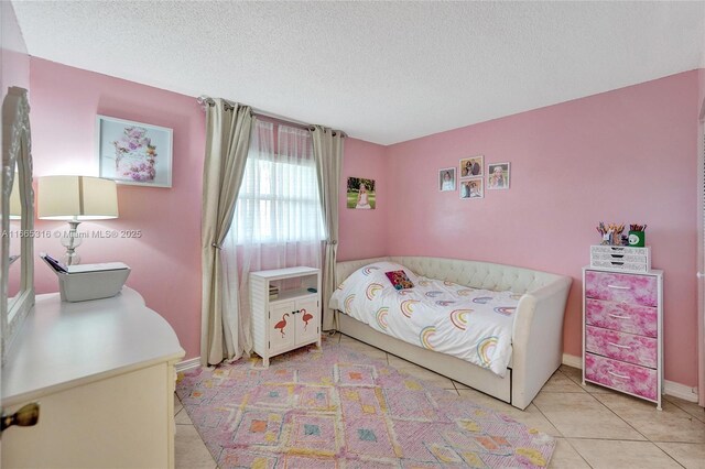
POLYGON ((619 391, 658 401, 657 370, 585 353, 585 379, 619 391))

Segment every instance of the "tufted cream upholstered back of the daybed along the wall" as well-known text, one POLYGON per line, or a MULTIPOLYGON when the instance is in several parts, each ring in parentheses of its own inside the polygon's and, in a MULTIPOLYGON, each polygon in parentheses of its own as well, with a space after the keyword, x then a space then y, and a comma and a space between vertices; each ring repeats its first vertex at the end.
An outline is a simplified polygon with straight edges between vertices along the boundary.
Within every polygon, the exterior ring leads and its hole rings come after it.
MULTIPOLYGON (((564 275, 491 262, 402 255, 338 262, 336 264, 336 284, 340 284, 356 270, 379 261, 400 263, 411 269, 415 274, 431 279, 446 280, 474 288, 497 292, 511 291, 521 294, 533 292, 564 277, 564 275)), ((565 279, 570 283, 570 280, 565 279)))

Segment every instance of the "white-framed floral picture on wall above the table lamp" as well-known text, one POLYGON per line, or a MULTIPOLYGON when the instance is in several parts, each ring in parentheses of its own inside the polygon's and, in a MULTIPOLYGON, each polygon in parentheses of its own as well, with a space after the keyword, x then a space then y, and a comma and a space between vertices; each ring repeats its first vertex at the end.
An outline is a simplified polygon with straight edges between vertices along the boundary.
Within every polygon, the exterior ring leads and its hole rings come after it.
POLYGON ((98 116, 96 141, 100 177, 119 184, 172 186, 172 129, 98 116))

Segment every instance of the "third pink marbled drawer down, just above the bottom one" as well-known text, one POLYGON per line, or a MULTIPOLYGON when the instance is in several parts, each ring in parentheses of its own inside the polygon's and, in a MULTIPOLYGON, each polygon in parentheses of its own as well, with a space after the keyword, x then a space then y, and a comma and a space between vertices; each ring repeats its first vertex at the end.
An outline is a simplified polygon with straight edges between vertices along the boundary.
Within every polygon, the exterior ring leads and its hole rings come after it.
POLYGON ((650 337, 586 326, 585 350, 642 367, 657 368, 658 343, 657 339, 650 337))

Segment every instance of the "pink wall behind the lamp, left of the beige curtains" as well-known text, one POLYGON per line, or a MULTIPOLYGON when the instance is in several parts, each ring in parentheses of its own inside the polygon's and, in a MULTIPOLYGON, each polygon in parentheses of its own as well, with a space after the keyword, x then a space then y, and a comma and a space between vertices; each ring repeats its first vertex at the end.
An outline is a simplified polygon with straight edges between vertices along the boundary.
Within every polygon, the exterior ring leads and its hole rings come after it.
MULTIPOLYGON (((34 176, 97 174, 96 114, 174 130, 173 187, 118 186, 120 218, 85 222, 86 231, 142 230, 140 239, 86 239, 84 263, 122 261, 127 284, 174 328, 186 357, 199 355, 200 190, 205 114, 195 99, 65 65, 31 59, 31 123, 34 176)), ((41 197, 41 194, 37 194, 41 197)), ((64 229, 37 220, 37 230, 64 229)), ((35 252, 61 257, 56 239, 37 239, 35 252)), ((35 262, 37 293, 57 291, 48 268, 35 262)))

